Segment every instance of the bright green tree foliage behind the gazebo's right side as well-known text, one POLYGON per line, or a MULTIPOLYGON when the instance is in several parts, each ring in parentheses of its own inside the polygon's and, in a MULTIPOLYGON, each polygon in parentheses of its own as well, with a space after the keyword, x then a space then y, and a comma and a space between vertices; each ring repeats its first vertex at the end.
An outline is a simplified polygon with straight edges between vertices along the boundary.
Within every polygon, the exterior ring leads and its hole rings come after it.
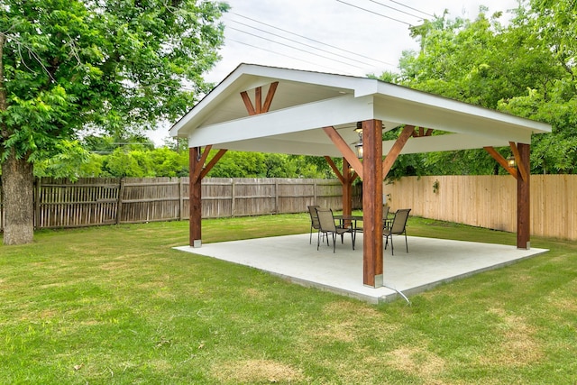
MULTIPOLYGON (((553 133, 533 138, 532 172, 577 172, 574 2, 522 1, 509 23, 501 22, 502 12, 488 11, 481 7, 472 21, 443 14, 414 27, 420 50, 404 52, 399 72, 380 78, 552 124, 553 133)), ((407 171, 487 174, 499 167, 479 150, 401 156, 392 175, 407 171), (406 164, 417 167, 403 170, 406 164)))

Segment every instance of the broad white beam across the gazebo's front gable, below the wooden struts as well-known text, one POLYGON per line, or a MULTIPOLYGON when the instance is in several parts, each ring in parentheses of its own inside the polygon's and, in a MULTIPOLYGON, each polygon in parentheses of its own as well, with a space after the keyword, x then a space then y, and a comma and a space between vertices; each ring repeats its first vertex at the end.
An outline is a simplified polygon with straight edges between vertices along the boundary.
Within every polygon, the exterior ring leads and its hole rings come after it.
POLYGON ((361 98, 355 98, 351 95, 334 97, 221 124, 198 127, 193 132, 188 133, 188 146, 238 142, 372 119, 372 107, 371 96, 361 98))

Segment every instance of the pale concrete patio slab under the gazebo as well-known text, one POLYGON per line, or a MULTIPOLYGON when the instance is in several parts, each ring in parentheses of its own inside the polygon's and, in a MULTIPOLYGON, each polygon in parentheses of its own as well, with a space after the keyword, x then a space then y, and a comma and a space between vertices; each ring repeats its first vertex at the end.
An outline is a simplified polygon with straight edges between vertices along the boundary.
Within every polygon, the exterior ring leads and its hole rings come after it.
POLYGON ((521 250, 516 246, 408 237, 395 237, 395 255, 390 246, 383 252, 384 272, 381 288, 362 284, 362 234, 357 234, 356 250, 345 236, 330 247, 316 250, 316 234, 257 238, 245 241, 205 243, 202 247, 177 247, 183 252, 231 261, 265 270, 283 279, 307 287, 325 289, 370 303, 387 302, 399 296, 411 296, 443 282, 534 257, 545 249, 521 250))

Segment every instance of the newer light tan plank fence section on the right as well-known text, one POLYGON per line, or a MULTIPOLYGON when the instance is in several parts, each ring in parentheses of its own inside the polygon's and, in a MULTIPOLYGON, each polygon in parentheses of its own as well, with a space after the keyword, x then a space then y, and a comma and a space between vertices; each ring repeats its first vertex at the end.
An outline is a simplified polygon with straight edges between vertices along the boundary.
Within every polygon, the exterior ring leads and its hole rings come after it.
MULTIPOLYGON (((465 225, 517 231, 510 176, 406 177, 383 186, 391 209, 465 225)), ((531 176, 531 234, 577 240, 577 175, 531 176)))

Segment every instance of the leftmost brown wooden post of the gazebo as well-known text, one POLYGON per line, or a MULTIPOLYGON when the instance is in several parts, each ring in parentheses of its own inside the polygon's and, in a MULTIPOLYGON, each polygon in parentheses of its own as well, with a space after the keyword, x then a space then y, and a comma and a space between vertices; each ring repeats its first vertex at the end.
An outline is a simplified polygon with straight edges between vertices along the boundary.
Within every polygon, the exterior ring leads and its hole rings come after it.
POLYGON ((200 147, 191 147, 189 152, 189 223, 188 223, 188 240, 191 247, 202 246, 202 178, 200 178, 200 169, 204 163, 200 163, 200 147), (197 176, 195 178, 195 176, 197 176))

